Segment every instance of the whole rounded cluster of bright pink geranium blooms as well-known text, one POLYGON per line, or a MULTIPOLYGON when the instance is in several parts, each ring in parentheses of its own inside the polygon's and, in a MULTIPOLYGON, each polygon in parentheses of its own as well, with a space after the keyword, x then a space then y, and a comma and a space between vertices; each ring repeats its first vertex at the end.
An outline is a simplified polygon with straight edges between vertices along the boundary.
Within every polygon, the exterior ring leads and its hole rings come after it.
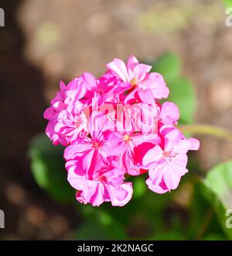
POLYGON ((44 112, 46 135, 66 146, 68 182, 84 204, 124 206, 132 196, 129 175, 148 176, 148 189, 170 192, 186 169, 188 150, 200 143, 176 128, 179 109, 161 74, 131 56, 115 58, 101 78, 90 73, 60 82, 44 112))

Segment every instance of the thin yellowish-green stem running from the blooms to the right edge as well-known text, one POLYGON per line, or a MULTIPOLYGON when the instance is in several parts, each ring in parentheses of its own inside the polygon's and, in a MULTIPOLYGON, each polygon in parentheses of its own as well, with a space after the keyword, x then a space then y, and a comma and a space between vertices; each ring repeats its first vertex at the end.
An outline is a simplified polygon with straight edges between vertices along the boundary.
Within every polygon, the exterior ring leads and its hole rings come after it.
POLYGON ((211 136, 221 137, 226 140, 232 140, 232 131, 227 130, 225 128, 217 127, 217 126, 210 126, 206 124, 196 123, 196 124, 179 125, 178 128, 182 132, 211 135, 211 136))

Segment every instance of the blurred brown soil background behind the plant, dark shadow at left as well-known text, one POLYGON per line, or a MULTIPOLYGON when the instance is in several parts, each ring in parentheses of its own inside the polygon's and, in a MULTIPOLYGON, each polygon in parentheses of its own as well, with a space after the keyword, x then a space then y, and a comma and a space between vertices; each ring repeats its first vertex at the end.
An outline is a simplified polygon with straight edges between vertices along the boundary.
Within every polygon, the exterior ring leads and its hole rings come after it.
MULTIPOLYGON (((222 2, 2 0, 0 7, 0 209, 7 213, 0 238, 68 239, 80 224, 75 209, 37 187, 26 157, 60 80, 101 75, 114 57, 152 61, 174 52, 196 87, 196 122, 232 129, 232 27, 222 2)), ((203 170, 232 157, 229 142, 200 139, 203 170)))

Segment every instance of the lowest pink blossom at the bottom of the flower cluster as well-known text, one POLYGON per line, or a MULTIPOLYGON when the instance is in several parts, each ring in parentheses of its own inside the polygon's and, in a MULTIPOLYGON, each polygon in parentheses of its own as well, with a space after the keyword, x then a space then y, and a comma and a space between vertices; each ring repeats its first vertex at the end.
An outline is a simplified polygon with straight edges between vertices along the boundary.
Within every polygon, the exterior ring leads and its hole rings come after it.
POLYGON ((77 201, 93 206, 111 202, 112 206, 125 206, 132 196, 131 182, 124 182, 125 172, 115 164, 94 166, 94 171, 82 168, 83 164, 67 162, 68 181, 77 189, 77 201), (72 168, 70 168, 70 166, 72 168))

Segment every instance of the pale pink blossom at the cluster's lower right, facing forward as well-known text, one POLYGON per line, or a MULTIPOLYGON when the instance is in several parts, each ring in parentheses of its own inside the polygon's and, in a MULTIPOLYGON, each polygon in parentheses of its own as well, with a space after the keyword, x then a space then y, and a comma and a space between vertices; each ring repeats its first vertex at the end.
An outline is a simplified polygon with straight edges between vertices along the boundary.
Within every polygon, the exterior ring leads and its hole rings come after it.
POLYGON ((186 139, 176 128, 164 128, 161 134, 163 147, 156 145, 142 159, 143 168, 149 170, 148 188, 160 194, 177 188, 181 176, 188 171, 186 153, 200 147, 198 140, 186 139))

